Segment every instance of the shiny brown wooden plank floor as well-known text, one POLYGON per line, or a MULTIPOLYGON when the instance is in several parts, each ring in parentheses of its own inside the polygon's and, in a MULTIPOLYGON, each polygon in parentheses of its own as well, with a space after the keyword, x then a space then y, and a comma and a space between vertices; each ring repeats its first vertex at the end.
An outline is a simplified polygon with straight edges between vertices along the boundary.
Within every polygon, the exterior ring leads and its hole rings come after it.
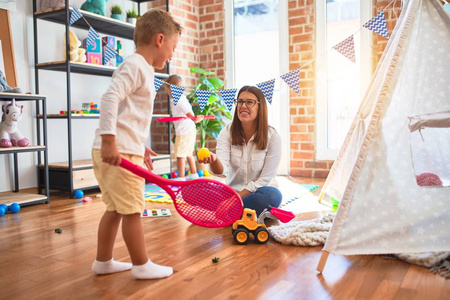
MULTIPOLYGON (((321 247, 274 240, 239 246, 230 228, 191 225, 173 205, 147 203, 162 207, 173 216, 143 219, 147 250, 175 273, 146 281, 132 279, 130 272, 92 275, 105 209, 99 198, 83 203, 57 192, 50 204, 0 217, 0 299, 450 299, 450 280, 426 268, 383 256, 330 255, 318 274, 321 247), (219 263, 212 263, 214 257, 219 263)), ((301 213, 298 219, 322 214, 301 213)), ((120 233, 114 256, 129 261, 120 233)))

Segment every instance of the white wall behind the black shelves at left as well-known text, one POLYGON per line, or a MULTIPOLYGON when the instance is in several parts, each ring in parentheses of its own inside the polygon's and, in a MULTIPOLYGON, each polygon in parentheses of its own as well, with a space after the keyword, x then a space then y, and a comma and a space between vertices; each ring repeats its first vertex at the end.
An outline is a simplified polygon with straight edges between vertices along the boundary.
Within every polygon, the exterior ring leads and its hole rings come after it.
MULTIPOLYGON (((80 7, 84 1, 72 1, 80 7)), ((16 1, 17 10, 10 11, 13 46, 16 59, 18 85, 24 92, 35 93, 34 76, 34 38, 33 38, 33 5, 32 1, 16 1)), ((123 11, 137 9, 137 4, 127 0, 109 1, 106 15, 109 16, 111 5, 121 5, 123 11)), ((38 6, 39 7, 39 6, 38 6)), ((141 11, 145 5, 141 5, 141 11)), ((95 28, 95 27, 94 27, 95 28)), ((87 37, 86 30, 73 29, 80 40, 87 37)), ((64 26, 38 20, 39 63, 64 59, 64 26)), ((121 39, 125 56, 133 53, 132 41, 121 39)), ((47 96, 47 113, 59 113, 66 110, 66 73, 55 71, 39 71, 40 94, 47 96)), ((105 92, 110 77, 72 74, 72 109, 81 109, 83 102, 100 103, 100 97, 105 92)), ((1 103, 1 104, 4 104, 1 103)), ((21 102, 24 114, 19 123, 19 129, 36 144, 36 119, 34 102, 21 102)), ((73 159, 90 158, 90 150, 97 127, 97 120, 73 120, 73 159)), ((67 120, 48 120, 48 152, 49 162, 67 161, 67 120)), ((36 153, 19 153, 19 188, 37 186, 37 156, 36 153)), ((13 157, 0 156, 0 192, 14 188, 13 157)))

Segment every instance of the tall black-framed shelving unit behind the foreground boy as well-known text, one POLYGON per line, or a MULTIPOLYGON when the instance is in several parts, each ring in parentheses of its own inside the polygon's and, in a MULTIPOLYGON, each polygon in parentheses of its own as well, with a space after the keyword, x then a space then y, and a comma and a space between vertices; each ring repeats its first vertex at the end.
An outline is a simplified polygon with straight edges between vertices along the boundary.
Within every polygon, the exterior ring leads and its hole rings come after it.
MULTIPOLYGON (((132 2, 138 3, 138 11, 140 12, 140 3, 149 2, 149 0, 130 0, 132 2)), ((111 77, 115 67, 93 65, 88 63, 79 63, 69 61, 69 29, 70 27, 80 28, 84 30, 89 30, 89 25, 84 22, 83 19, 79 19, 74 24, 69 26, 70 14, 72 7, 68 5, 68 0, 66 0, 65 7, 53 8, 44 11, 37 11, 38 0, 33 0, 33 24, 34 24, 34 56, 35 56, 35 85, 36 92, 39 93, 39 72, 42 70, 47 71, 57 71, 66 73, 66 91, 67 91, 67 101, 64 105, 67 111, 72 110, 72 99, 71 99, 71 73, 86 74, 86 75, 96 75, 96 76, 108 76, 111 77), (66 32, 66 56, 67 59, 63 61, 52 61, 52 62, 39 62, 38 57, 38 33, 37 26, 38 20, 53 22, 57 24, 62 24, 65 26, 66 32)), ((168 8, 168 1, 166 1, 166 8, 168 8)), ((135 26, 115 20, 109 17, 100 16, 87 11, 80 10, 83 17, 89 22, 89 24, 99 33, 103 35, 111 35, 118 38, 133 39, 133 33, 135 26)), ((168 69, 167 69, 168 70, 168 69)), ((164 73, 155 73, 158 78, 167 78, 168 75, 164 73)), ((101 109, 101 108, 100 108, 101 109)), ((170 116, 170 105, 168 105, 167 114, 154 115, 153 118, 167 117, 170 116)), ((95 180, 95 176, 92 170, 92 161, 89 160, 73 160, 73 140, 72 140, 72 126, 75 126, 72 121, 77 120, 77 122, 82 122, 82 120, 87 119, 98 119, 99 115, 81 115, 81 114, 50 114, 48 119, 67 119, 67 149, 68 158, 65 162, 50 163, 48 166, 49 172, 49 187, 50 189, 65 190, 70 192, 70 196, 73 197, 75 190, 82 189, 94 189, 98 188, 98 184, 95 180)), ((170 126, 168 125, 169 136, 170 136, 170 126)), ((170 139, 169 139, 170 143, 170 139)), ((169 172, 171 171, 170 163, 170 144, 169 144, 169 154, 159 155, 153 159, 155 165, 155 172, 160 170, 163 171, 163 160, 169 159, 169 172), (158 167, 159 166, 159 167, 158 167)), ((44 166, 41 168, 41 175, 44 172, 44 166)))

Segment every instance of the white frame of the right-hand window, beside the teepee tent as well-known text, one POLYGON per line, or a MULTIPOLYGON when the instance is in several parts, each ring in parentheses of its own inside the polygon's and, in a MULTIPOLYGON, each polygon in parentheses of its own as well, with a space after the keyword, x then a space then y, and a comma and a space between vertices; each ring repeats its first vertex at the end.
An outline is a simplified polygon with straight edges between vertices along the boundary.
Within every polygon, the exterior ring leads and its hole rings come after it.
MULTIPOLYGON (((371 32, 362 27, 372 16, 372 3, 360 0, 361 3, 361 100, 364 97, 372 71, 371 32)), ((327 91, 327 51, 326 48, 326 1, 316 1, 316 159, 334 160, 339 149, 330 149, 328 141, 328 91, 327 91)), ((343 37, 344 40, 347 37, 343 37)), ((334 50, 332 50, 334 51, 334 50)))

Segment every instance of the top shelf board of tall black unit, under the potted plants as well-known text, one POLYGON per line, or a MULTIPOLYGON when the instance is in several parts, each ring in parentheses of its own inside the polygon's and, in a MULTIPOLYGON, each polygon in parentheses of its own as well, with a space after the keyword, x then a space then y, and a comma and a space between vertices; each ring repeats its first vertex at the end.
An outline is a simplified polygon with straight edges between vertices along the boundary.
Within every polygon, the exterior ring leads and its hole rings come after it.
MULTIPOLYGON (((86 21, 92 26, 92 28, 94 28, 98 33, 104 33, 107 35, 117 36, 130 40, 133 39, 135 28, 133 24, 94 14, 85 10, 78 10, 86 19, 86 21)), ((69 7, 69 11, 72 12, 72 7, 69 7)), ((66 20, 70 18, 66 18, 66 11, 64 7, 38 11, 35 12, 35 16, 38 19, 55 22, 62 25, 65 25, 66 20)), ((78 19, 70 26, 89 30, 89 25, 83 20, 83 18, 78 19)))

